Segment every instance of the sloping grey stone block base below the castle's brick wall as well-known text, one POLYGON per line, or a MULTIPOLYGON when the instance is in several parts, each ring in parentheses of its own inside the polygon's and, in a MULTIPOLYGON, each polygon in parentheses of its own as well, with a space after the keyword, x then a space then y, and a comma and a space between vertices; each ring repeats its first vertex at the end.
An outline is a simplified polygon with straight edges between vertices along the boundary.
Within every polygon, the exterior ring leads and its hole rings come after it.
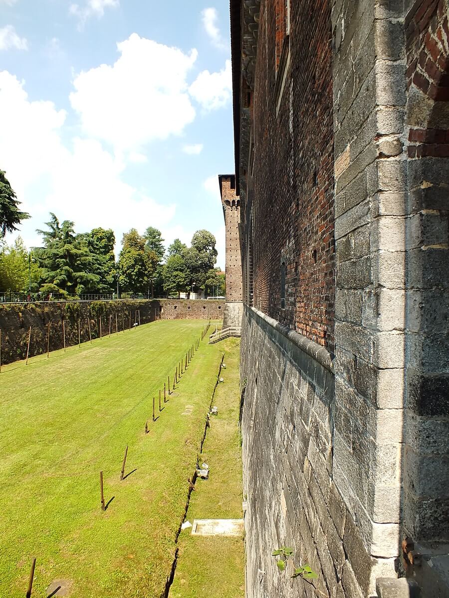
POLYGON ((329 353, 245 307, 240 371, 248 596, 318 595, 291 577, 305 564, 320 596, 367 596, 375 559, 333 481, 329 353), (295 553, 281 572, 271 553, 283 546, 295 553))

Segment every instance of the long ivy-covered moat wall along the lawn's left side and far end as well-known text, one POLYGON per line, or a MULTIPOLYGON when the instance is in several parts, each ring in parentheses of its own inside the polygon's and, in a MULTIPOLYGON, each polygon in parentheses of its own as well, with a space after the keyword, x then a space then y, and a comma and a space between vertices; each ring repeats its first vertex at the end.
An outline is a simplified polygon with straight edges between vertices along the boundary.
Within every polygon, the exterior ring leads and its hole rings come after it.
POLYGON ((31 343, 29 356, 47 352, 48 323, 50 322, 50 351, 62 349, 63 322, 66 346, 78 344, 78 319, 81 342, 89 341, 89 322, 92 338, 109 334, 117 328, 123 331, 134 322, 148 324, 156 319, 220 318, 224 301, 123 300, 123 301, 54 301, 51 303, 8 303, 0 305, 1 362, 8 364, 25 359, 29 328, 31 343), (204 306, 204 307, 203 307, 204 306), (190 309, 188 309, 190 308, 190 309), (117 320, 116 320, 117 315, 117 320))

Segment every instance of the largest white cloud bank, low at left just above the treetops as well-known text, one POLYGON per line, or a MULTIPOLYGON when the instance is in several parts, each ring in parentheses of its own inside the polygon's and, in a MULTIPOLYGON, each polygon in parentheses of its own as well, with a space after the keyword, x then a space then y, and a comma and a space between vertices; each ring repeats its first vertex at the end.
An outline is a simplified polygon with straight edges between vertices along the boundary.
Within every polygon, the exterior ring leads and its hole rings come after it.
MULTIPOLYGON (((111 227, 117 242, 142 223, 169 225, 175 206, 164 206, 123 181, 125 161, 105 151, 96 139, 62 139, 66 114, 52 102, 32 102, 25 83, 0 72, 0 164, 32 219, 22 225, 29 245, 40 243, 51 210, 75 222, 76 230, 111 227)), ((143 232, 143 230, 141 231, 143 232)))

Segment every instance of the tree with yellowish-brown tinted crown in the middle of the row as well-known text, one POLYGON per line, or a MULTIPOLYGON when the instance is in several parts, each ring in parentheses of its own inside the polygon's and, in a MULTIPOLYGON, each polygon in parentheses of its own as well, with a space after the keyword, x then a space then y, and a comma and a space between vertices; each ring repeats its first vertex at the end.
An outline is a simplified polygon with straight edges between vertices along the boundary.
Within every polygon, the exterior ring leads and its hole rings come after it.
POLYGON ((135 228, 123 235, 118 268, 120 286, 124 291, 149 292, 157 263, 156 253, 145 247, 144 237, 135 228))

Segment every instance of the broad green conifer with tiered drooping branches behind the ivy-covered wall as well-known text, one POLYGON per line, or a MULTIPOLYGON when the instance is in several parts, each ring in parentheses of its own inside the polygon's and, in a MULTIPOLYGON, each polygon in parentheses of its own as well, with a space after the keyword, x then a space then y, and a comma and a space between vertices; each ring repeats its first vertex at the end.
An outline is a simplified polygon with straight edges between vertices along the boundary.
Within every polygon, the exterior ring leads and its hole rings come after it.
POLYGON ((43 269, 41 291, 48 291, 45 285, 53 285, 69 295, 95 291, 99 276, 95 273, 95 260, 83 235, 75 235, 74 223, 65 220, 59 223, 50 213, 45 222, 48 230, 38 230, 44 237, 44 247, 35 251, 43 269))

